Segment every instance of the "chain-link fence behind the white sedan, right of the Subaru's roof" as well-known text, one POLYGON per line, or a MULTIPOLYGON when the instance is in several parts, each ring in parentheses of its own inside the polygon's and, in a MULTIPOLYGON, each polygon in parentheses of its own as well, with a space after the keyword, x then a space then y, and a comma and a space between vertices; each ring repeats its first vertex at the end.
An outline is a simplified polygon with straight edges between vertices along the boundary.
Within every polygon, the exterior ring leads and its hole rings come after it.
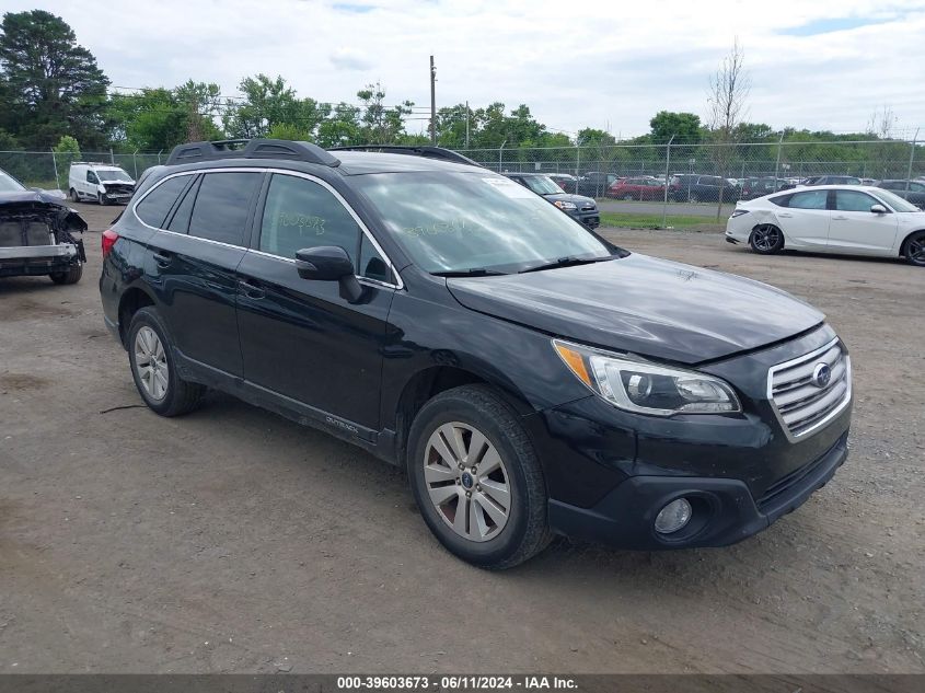
POLYGON ((668 204, 735 203, 816 176, 875 184, 925 174, 925 145, 904 140, 501 147, 460 153, 502 173, 554 174, 569 193, 668 204))

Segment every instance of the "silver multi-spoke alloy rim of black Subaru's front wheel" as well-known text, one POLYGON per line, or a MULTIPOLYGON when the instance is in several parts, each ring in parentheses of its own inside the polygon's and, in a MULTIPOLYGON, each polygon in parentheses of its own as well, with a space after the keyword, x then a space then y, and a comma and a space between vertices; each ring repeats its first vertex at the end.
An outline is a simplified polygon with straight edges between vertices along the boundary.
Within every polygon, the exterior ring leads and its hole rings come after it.
POLYGON ((438 515, 463 539, 485 542, 505 529, 510 477, 477 428, 450 421, 435 430, 424 453, 424 481, 438 515))

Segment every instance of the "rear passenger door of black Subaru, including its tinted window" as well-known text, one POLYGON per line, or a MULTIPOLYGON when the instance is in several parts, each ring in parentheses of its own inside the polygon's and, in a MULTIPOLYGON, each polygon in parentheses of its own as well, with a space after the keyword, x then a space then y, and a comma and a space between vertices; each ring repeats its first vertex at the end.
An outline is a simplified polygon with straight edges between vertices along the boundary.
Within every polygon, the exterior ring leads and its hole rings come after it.
POLYGON ((236 377, 242 363, 235 272, 246 252, 263 178, 262 171, 240 170, 196 176, 164 228, 149 241, 152 284, 161 292, 175 347, 194 361, 236 377))

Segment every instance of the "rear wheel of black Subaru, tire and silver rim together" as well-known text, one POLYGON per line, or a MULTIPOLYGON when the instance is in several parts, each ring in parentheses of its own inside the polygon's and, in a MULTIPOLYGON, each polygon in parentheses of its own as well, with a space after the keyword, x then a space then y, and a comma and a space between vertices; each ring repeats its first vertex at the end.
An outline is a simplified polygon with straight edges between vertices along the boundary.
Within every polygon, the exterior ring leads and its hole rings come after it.
POLYGON ((206 392, 205 386, 177 374, 166 327, 153 308, 141 308, 131 317, 128 360, 138 393, 161 416, 193 411, 206 392))

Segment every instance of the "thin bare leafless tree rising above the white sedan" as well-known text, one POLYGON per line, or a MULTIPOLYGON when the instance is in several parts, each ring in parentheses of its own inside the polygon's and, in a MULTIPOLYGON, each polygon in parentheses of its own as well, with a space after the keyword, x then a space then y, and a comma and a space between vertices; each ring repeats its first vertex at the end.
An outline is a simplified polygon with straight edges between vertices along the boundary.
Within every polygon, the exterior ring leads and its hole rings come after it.
POLYGON ((751 78, 745 70, 745 54, 736 38, 729 54, 722 58, 716 73, 710 78, 707 97, 707 127, 714 145, 710 147, 710 157, 716 166, 716 174, 721 177, 719 199, 716 204, 717 221, 722 213, 724 183, 729 174, 736 128, 744 117, 750 92, 751 78))

